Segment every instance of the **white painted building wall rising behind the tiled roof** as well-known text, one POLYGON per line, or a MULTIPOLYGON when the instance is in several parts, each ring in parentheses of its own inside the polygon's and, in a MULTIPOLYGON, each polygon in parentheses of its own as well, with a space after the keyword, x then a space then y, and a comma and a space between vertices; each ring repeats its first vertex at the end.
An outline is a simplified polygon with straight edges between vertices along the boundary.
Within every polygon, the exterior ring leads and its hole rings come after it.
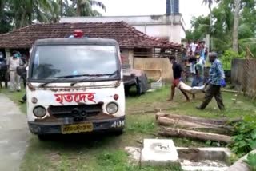
POLYGON ((185 38, 185 24, 181 14, 173 16, 114 16, 61 18, 60 22, 127 22, 137 30, 158 38, 169 38, 170 42, 181 43, 185 38))

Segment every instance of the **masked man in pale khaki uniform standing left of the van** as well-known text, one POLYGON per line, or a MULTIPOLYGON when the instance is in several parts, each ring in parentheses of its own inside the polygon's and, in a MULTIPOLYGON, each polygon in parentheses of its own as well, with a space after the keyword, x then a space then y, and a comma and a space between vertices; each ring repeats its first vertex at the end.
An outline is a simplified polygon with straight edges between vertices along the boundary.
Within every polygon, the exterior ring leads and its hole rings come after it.
POLYGON ((21 62, 21 54, 15 51, 13 55, 7 59, 7 66, 10 74, 10 91, 13 92, 15 90, 20 91, 20 76, 17 73, 17 67, 20 66, 21 62))

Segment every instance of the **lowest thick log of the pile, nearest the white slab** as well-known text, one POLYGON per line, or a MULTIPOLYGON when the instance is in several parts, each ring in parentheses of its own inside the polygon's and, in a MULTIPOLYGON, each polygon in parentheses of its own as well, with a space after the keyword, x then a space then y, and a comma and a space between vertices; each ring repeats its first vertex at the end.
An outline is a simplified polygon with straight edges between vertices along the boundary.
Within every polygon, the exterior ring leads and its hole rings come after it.
POLYGON ((217 133, 205 133, 193 130, 185 130, 185 129, 173 129, 162 127, 159 131, 159 134, 164 137, 187 137, 192 139, 199 139, 205 141, 222 141, 226 143, 231 143, 232 137, 221 135, 217 133))

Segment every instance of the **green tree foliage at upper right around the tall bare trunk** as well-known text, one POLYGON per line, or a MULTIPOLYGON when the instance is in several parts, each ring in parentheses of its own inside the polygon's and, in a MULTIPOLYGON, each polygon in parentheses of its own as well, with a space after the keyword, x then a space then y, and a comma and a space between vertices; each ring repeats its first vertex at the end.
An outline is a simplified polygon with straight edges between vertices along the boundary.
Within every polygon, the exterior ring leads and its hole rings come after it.
MULTIPOLYGON (((204 0, 210 6, 213 1, 204 0)), ((208 7, 209 7, 208 6, 208 7)), ((245 53, 249 48, 256 57, 256 2, 254 0, 241 0, 239 13, 238 47, 239 54, 245 53)), ((210 34, 213 39, 213 50, 223 53, 232 47, 232 33, 234 24, 234 0, 218 1, 218 5, 211 11, 211 15, 191 19, 192 28, 186 31, 186 39, 197 40, 210 34), (210 26, 210 16, 212 25, 210 26), (206 22, 206 21, 209 22, 206 22), (208 25, 208 26, 207 26, 208 25)), ((226 66, 230 68, 230 66, 226 66)))

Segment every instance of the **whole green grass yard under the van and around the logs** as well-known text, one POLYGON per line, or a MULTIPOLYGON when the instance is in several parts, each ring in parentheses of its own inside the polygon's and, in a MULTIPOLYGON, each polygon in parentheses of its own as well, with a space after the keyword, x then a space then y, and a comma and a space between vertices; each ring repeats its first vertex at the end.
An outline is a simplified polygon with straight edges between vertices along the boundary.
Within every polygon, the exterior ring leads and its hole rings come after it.
MULTIPOLYGON (((235 118, 246 114, 256 114, 254 101, 238 96, 236 104, 232 101, 234 94, 223 93, 226 112, 221 113, 213 100, 203 111, 195 109, 200 105, 203 94, 198 94, 191 102, 184 102, 179 91, 176 92, 174 102, 167 102, 170 88, 154 93, 146 93, 141 97, 126 98, 126 132, 116 137, 114 135, 81 135, 53 137, 51 141, 38 141, 32 136, 30 145, 23 158, 21 170, 110 170, 110 171, 160 171, 181 170, 174 165, 166 167, 144 167, 128 164, 128 157, 124 148, 126 146, 142 147, 144 138, 162 138, 155 135, 158 125, 155 123, 154 111, 166 109, 168 113, 183 114, 210 118, 235 118), (224 116, 222 115, 224 114, 224 116)), ((9 93, 2 89, 7 97, 18 104, 18 100, 25 93, 9 93)), ((20 105, 20 104, 18 104, 20 105)), ((22 112, 26 113, 26 105, 21 105, 22 112)), ((198 147, 210 146, 205 141, 191 141, 186 138, 172 138, 176 146, 198 147)))

